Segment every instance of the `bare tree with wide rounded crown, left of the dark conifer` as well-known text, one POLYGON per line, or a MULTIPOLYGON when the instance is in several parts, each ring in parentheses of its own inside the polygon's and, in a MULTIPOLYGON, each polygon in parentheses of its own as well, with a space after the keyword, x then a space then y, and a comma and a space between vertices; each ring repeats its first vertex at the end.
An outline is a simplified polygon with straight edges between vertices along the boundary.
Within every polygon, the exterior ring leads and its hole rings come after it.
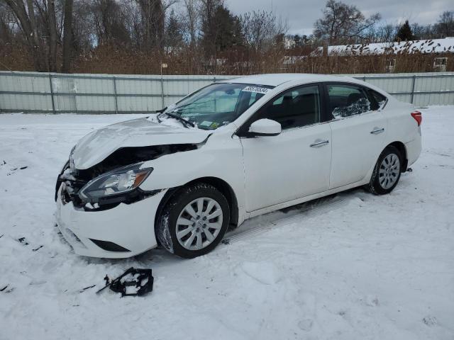
POLYGON ((380 18, 379 13, 365 18, 356 6, 328 0, 323 9, 323 18, 314 24, 314 35, 328 40, 330 44, 358 42, 367 38, 367 30, 375 26, 380 18))

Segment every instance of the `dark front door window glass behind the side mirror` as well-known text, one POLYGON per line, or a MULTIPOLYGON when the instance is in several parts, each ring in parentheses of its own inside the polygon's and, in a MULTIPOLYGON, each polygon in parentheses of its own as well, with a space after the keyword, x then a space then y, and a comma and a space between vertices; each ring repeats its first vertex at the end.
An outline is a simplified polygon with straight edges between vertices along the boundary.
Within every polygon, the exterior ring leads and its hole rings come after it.
POLYGON ((303 86, 284 92, 262 108, 258 119, 261 118, 276 120, 283 130, 319 123, 319 86, 303 86))

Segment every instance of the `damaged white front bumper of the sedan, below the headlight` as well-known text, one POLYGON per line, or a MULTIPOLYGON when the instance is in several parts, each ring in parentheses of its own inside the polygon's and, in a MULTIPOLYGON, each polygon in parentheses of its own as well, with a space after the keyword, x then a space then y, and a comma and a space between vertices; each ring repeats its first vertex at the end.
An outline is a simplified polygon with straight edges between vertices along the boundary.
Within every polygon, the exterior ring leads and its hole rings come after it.
POLYGON ((74 252, 83 256, 121 259, 157 246, 155 214, 167 190, 108 210, 87 211, 62 200, 57 190, 57 224, 74 252))

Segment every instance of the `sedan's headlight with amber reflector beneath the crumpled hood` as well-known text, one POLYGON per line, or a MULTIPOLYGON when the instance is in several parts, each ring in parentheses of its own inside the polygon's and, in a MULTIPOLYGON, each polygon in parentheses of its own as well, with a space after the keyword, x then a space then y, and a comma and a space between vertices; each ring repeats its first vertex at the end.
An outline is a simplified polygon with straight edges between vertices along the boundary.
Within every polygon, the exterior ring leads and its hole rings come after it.
POLYGON ((153 171, 153 168, 140 169, 142 164, 123 166, 92 179, 80 189, 79 197, 84 201, 95 203, 101 197, 132 191, 140 186, 153 171))

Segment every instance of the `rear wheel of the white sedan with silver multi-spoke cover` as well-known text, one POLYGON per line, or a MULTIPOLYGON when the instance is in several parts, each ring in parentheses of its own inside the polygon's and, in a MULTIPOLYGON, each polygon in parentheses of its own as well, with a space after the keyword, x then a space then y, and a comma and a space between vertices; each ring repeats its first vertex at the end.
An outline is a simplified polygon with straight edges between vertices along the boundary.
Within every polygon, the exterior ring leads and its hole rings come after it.
POLYGON ((386 147, 377 164, 367 188, 375 195, 390 193, 399 182, 402 169, 402 155, 396 147, 386 147))

